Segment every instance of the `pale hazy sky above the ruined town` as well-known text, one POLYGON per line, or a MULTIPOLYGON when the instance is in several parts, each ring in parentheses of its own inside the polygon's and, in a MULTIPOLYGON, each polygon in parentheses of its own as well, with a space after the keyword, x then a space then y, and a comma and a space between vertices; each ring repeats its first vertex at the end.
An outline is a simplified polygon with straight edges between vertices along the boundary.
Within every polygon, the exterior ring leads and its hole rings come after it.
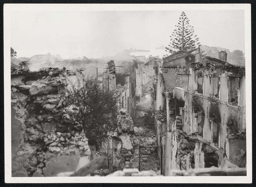
MULTIPOLYGON (((115 55, 169 44, 182 11, 15 11, 11 46, 18 57, 115 55)), ((244 52, 244 11, 185 11, 202 45, 244 52)))

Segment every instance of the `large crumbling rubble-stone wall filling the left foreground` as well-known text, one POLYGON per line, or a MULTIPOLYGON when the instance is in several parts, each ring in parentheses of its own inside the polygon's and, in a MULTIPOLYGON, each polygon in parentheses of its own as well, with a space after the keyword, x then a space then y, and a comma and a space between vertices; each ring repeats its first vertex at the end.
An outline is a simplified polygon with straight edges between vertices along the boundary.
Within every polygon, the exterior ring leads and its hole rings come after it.
POLYGON ((88 139, 68 105, 66 70, 11 85, 12 176, 55 176, 89 162, 88 139))

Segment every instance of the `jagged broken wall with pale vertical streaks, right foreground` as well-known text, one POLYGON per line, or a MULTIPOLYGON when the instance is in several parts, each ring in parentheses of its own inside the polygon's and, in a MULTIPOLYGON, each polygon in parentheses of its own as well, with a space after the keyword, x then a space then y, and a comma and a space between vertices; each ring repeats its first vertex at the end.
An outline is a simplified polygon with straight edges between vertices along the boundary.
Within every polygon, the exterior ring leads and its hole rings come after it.
POLYGON ((218 150, 197 135, 182 131, 180 117, 172 127, 172 147, 166 147, 166 151, 172 155, 171 169, 209 168, 220 164, 218 150))

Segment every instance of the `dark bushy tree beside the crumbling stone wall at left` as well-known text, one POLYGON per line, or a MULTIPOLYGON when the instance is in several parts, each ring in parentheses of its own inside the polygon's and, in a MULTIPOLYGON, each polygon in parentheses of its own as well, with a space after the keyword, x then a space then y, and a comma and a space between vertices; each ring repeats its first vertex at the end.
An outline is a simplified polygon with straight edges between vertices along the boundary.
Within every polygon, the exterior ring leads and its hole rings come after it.
POLYGON ((83 126, 89 144, 100 146, 108 132, 117 127, 116 98, 95 79, 85 77, 73 84, 69 92, 69 103, 79 108, 76 120, 83 126))

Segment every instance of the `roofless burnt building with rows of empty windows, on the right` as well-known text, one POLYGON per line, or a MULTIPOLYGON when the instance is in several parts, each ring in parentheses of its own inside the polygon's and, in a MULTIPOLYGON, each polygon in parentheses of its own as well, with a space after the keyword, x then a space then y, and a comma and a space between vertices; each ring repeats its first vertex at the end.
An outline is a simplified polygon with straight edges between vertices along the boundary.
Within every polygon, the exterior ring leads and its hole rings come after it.
POLYGON ((200 47, 163 59, 155 124, 157 144, 172 155, 169 169, 219 167, 223 158, 246 167, 245 67, 226 60, 225 51, 217 59, 200 47))

